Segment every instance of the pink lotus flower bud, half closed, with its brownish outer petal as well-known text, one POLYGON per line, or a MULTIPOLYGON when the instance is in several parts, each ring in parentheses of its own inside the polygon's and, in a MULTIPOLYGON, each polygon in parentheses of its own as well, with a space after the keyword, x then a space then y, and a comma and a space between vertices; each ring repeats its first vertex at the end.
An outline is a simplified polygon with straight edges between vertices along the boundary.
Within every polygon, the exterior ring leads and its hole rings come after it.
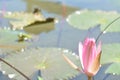
MULTIPOLYGON (((96 48, 94 38, 86 38, 84 43, 79 43, 79 56, 83 72, 91 78, 100 68, 101 42, 96 48)), ((91 79, 88 79, 91 80, 91 79)))

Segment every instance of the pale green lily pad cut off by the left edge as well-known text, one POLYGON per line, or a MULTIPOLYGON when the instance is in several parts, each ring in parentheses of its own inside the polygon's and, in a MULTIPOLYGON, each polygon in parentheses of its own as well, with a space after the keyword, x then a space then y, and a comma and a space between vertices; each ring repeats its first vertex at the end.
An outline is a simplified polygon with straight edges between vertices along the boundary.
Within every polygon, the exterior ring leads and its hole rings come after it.
POLYGON ((27 42, 18 42, 18 35, 21 32, 7 29, 0 29, 0 48, 20 50, 28 46, 27 42))

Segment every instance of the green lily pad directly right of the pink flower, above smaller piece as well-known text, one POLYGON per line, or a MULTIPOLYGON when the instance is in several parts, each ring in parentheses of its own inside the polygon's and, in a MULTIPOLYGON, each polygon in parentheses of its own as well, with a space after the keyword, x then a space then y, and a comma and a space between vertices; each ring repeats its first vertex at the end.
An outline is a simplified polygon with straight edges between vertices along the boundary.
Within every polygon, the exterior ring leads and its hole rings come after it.
POLYGON ((102 45, 101 63, 120 62, 120 44, 102 45))

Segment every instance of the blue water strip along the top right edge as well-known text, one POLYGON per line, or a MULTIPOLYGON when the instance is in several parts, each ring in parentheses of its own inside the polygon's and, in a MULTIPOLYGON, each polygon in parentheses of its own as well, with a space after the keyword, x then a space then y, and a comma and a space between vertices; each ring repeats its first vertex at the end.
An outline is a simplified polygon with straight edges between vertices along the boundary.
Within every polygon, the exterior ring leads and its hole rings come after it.
POLYGON ((78 8, 87 8, 87 9, 95 9, 95 10, 117 10, 120 11, 120 1, 119 0, 51 0, 54 2, 65 3, 70 6, 78 7, 78 8))

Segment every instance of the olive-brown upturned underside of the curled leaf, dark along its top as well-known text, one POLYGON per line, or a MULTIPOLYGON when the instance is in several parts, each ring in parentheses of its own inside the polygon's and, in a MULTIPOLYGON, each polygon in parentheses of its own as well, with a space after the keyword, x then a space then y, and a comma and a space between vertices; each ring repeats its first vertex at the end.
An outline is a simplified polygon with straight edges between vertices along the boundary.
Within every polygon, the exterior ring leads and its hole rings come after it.
POLYGON ((40 34, 42 32, 53 30, 55 28, 54 25, 54 18, 47 18, 46 21, 36 21, 35 23, 24 27, 24 31, 32 34, 40 34))

